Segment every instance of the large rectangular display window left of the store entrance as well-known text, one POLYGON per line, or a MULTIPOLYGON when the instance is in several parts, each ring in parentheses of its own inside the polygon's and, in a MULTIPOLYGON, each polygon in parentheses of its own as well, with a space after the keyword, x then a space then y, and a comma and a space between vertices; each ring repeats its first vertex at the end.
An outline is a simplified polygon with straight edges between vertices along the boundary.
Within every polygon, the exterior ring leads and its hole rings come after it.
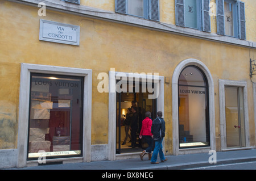
POLYGON ((31 73, 28 159, 82 155, 84 78, 31 73))

